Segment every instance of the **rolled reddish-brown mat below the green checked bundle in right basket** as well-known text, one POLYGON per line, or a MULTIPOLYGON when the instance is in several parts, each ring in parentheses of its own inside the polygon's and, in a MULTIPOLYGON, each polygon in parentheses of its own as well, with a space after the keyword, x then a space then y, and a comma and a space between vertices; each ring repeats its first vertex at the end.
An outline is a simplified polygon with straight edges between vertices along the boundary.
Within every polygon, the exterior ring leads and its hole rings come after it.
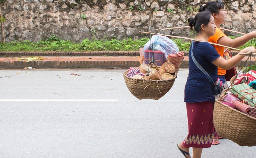
POLYGON ((237 100, 232 101, 232 104, 235 105, 238 111, 243 112, 249 116, 256 117, 256 108, 250 107, 249 105, 246 105, 237 100))

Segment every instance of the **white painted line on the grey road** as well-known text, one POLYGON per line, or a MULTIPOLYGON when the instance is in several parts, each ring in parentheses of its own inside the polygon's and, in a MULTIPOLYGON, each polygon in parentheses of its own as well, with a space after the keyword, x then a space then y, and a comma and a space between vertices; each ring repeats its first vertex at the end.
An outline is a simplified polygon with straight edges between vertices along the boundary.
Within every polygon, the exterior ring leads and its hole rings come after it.
POLYGON ((117 102, 118 99, 0 99, 0 102, 117 102))

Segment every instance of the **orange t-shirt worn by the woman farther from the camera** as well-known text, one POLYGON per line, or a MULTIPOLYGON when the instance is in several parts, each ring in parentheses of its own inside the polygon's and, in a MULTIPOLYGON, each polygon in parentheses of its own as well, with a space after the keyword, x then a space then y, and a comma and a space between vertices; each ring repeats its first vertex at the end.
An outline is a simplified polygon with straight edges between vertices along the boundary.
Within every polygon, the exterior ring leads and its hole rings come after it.
MULTIPOLYGON (((221 31, 221 29, 216 28, 215 34, 208 39, 208 42, 218 44, 218 40, 223 36, 227 36, 227 35, 225 35, 225 33, 221 31)), ((216 45, 213 45, 213 46, 215 47, 219 55, 223 57, 225 47, 216 46, 216 45)), ((225 75, 225 74, 226 74, 226 70, 218 67, 218 75, 225 75)))

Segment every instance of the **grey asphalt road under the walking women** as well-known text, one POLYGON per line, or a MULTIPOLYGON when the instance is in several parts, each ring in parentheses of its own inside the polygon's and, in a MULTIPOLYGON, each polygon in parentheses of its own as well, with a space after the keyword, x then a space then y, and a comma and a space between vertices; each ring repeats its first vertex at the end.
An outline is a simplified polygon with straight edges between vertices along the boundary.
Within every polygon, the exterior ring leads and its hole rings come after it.
MULTIPOLYGON (((123 72, 1 70, 0 157, 182 158, 188 70, 159 100, 135 98, 123 72)), ((220 142, 202 158, 256 157, 256 147, 220 142)))

